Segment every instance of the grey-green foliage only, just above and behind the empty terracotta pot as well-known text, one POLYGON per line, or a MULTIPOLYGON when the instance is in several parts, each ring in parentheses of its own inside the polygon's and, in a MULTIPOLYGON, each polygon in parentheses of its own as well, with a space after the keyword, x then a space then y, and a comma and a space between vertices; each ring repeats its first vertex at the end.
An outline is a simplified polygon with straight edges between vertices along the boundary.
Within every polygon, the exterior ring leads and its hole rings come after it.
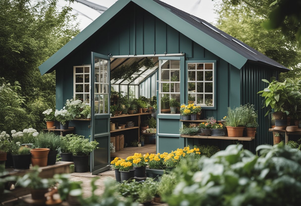
POLYGON ((59 151, 61 147, 61 138, 55 133, 40 133, 37 136, 34 148, 49 148, 51 151, 59 151))

